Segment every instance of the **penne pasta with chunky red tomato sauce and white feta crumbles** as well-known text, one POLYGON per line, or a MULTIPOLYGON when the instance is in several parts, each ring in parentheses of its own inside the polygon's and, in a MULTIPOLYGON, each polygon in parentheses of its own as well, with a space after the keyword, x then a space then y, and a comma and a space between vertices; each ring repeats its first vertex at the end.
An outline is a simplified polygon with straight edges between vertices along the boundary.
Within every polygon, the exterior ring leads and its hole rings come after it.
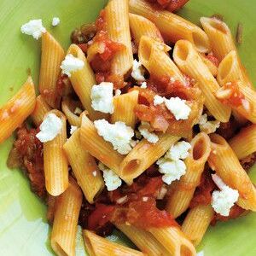
POLYGON ((67 51, 21 26, 42 40, 39 94, 29 75, 0 108, 0 143, 15 132, 7 165, 46 203, 57 255, 80 226, 90 256, 192 256, 209 225, 256 211, 256 91, 229 26, 184 20, 187 2, 109 0, 67 51))

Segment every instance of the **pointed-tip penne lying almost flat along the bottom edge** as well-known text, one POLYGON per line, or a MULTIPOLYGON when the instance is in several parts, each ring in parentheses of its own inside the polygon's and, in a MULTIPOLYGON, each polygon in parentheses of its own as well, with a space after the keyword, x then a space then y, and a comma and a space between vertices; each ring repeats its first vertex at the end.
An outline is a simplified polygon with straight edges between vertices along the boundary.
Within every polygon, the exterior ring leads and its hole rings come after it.
POLYGON ((146 254, 137 250, 108 241, 102 236, 97 236, 90 230, 83 230, 84 244, 90 256, 143 256, 146 254))

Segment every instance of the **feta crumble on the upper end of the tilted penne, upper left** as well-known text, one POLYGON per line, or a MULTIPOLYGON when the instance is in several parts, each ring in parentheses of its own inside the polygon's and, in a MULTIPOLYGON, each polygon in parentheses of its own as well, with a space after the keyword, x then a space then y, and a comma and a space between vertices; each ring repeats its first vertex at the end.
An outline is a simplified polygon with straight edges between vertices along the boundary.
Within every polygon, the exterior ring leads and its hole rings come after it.
POLYGON ((66 55, 65 60, 61 62, 62 73, 67 74, 68 77, 71 77, 72 72, 78 71, 83 67, 84 61, 74 57, 71 54, 66 55))

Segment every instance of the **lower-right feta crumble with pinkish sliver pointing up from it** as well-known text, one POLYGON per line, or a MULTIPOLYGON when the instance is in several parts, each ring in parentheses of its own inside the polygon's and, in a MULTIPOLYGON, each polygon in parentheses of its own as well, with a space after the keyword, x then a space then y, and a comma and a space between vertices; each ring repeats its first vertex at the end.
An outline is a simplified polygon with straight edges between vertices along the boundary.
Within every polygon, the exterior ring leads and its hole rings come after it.
POLYGON ((212 175, 212 179, 220 189, 220 191, 212 192, 212 208, 222 216, 229 216, 230 209, 238 200, 239 193, 236 189, 231 189, 226 185, 218 175, 212 175))

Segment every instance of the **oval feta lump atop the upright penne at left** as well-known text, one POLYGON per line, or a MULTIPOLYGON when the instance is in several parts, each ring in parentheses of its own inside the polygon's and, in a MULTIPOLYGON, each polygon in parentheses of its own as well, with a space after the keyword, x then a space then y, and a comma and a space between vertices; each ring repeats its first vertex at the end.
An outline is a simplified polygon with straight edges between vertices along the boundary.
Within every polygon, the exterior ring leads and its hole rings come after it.
POLYGON ((49 113, 39 126, 40 131, 36 135, 41 143, 52 141, 60 132, 62 121, 55 113, 49 113))

